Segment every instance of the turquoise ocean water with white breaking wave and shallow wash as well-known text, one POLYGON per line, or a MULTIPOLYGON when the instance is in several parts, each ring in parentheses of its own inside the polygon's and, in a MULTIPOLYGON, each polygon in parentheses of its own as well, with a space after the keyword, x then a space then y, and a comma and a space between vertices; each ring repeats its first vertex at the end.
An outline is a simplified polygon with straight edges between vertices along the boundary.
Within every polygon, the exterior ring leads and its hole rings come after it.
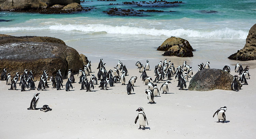
POLYGON ((0 33, 56 37, 94 62, 100 57, 114 61, 158 61, 166 57, 156 48, 175 36, 187 39, 197 50, 193 58, 181 58, 181 61, 196 66, 197 62, 209 60, 218 67, 219 62, 234 63, 227 57, 244 46, 249 29, 256 23, 256 0, 185 0, 165 7, 124 5, 124 1, 127 0, 84 2, 83 7, 94 6, 94 9, 72 14, 0 12, 0 19, 11 20, 0 22, 0 33), (144 12, 139 17, 103 13, 112 7, 165 12, 144 12))

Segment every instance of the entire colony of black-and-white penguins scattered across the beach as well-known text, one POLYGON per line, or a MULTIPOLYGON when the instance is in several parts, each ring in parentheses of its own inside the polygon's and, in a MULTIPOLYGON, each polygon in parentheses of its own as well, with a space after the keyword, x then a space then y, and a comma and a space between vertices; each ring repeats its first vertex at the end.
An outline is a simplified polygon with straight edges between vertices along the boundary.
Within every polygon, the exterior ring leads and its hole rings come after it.
MULTIPOLYGON (((98 64, 97 69, 98 74, 97 77, 92 73, 91 70, 91 61, 88 62, 87 65, 83 65, 83 67, 80 68, 77 76, 79 77, 79 84, 81 84, 80 90, 86 90, 86 92, 93 91, 95 86, 98 85, 99 80, 99 86, 101 90, 108 90, 109 87, 113 87, 115 83, 122 83, 122 85, 125 85, 126 79, 125 76, 128 75, 128 70, 126 68, 126 65, 124 65, 120 60, 118 61, 116 67, 113 69, 110 69, 109 71, 106 70, 105 64, 103 62, 103 59, 100 59, 100 62, 98 64), (91 74, 90 78, 87 78, 91 74)), ((154 69, 154 75, 155 80, 153 81, 152 77, 147 76, 146 71, 150 70, 149 61, 146 60, 145 66, 140 62, 136 62, 135 64, 139 72, 142 73, 140 78, 142 79, 143 83, 147 87, 145 87, 145 93, 147 95, 148 103, 154 104, 155 103, 155 97, 160 96, 160 91, 162 91, 162 94, 167 94, 169 92, 168 84, 171 83, 170 80, 172 80, 172 77, 175 77, 175 80, 178 81, 177 87, 179 87, 179 90, 185 90, 187 85, 186 82, 188 82, 188 78, 191 78, 193 76, 193 70, 192 67, 187 64, 186 61, 184 61, 182 66, 178 66, 177 68, 174 67, 174 64, 171 61, 167 62, 167 59, 165 59, 163 62, 160 61, 154 69), (166 79, 166 80, 165 80, 166 79), (160 86, 160 90, 157 87, 156 83, 159 83, 159 81, 164 81, 162 85, 160 86)), ((201 71, 203 69, 209 69, 210 68, 210 62, 207 61, 204 65, 203 63, 198 65, 198 71, 201 71)), ((225 65, 223 67, 223 71, 230 72, 230 67, 225 65)), ((249 66, 246 66, 245 68, 242 67, 242 64, 237 63, 234 68, 235 73, 238 73, 238 75, 235 75, 233 77, 233 83, 231 85, 231 89, 233 91, 239 91, 241 88, 238 87, 238 81, 243 83, 243 85, 248 85, 246 79, 250 79, 249 74, 249 66)), ((47 84, 49 76, 47 74, 47 71, 44 70, 42 72, 40 81, 38 83, 38 87, 35 86, 34 83, 34 77, 32 71, 28 71, 28 69, 24 70, 24 73, 22 75, 17 72, 13 78, 11 77, 10 73, 7 74, 7 69, 4 68, 1 73, 1 80, 6 81, 7 85, 10 85, 9 90, 17 90, 17 82, 19 82, 19 86, 21 86, 21 91, 26 91, 26 88, 29 90, 45 90, 45 88, 49 88, 47 84)), ((73 70, 69 69, 67 73, 67 82, 66 82, 66 91, 70 91, 70 89, 73 89, 72 83, 75 83, 75 78, 73 74, 73 70)), ((126 91, 127 94, 132 94, 131 92, 134 92, 134 84, 136 83, 136 80, 138 77, 132 76, 127 83, 126 91)), ((52 88, 56 88, 57 90, 62 90, 63 88, 63 80, 62 80, 62 73, 59 69, 56 73, 55 78, 51 76, 49 78, 52 88)), ((31 103, 30 107, 27 108, 27 110, 39 110, 43 112, 52 111, 52 109, 48 105, 43 105, 41 108, 37 108, 37 103, 39 101, 39 94, 35 93, 31 103)), ((134 93, 135 94, 135 93, 134 93)), ((135 119, 135 124, 139 120, 139 129, 145 130, 145 126, 147 123, 147 118, 144 113, 144 109, 142 107, 139 107, 136 111, 138 111, 138 116, 135 119), (143 128, 141 128, 143 126, 143 128)), ((222 120, 224 122, 226 120, 225 112, 227 111, 227 107, 221 107, 219 108, 213 115, 217 114, 218 122, 222 120)), ((148 123, 147 123, 148 125, 148 123)))

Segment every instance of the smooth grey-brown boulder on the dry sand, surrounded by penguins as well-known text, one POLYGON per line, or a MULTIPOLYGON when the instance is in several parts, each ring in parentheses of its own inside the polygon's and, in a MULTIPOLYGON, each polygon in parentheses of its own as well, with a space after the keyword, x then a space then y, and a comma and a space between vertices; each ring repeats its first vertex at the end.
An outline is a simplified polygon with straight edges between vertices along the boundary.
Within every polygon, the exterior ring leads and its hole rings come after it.
MULTIPOLYGON (((238 81, 238 80, 237 80, 238 81)), ((221 69, 203 69, 198 71, 190 80, 188 90, 211 91, 215 89, 231 90, 233 76, 221 69)), ((238 81, 239 86, 242 84, 238 81)), ((239 87, 239 88, 240 88, 239 87)))

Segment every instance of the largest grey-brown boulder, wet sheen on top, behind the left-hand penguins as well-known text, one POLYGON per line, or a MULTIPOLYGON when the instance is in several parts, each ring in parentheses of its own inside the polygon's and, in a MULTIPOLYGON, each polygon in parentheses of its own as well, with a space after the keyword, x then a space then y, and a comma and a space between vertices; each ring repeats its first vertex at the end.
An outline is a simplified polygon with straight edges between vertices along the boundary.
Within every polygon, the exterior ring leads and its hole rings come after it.
POLYGON ((7 73, 12 76, 28 69, 39 79, 44 70, 49 76, 55 76, 61 69, 65 77, 68 69, 78 72, 83 64, 79 53, 60 39, 0 35, 0 69, 7 68, 7 73))

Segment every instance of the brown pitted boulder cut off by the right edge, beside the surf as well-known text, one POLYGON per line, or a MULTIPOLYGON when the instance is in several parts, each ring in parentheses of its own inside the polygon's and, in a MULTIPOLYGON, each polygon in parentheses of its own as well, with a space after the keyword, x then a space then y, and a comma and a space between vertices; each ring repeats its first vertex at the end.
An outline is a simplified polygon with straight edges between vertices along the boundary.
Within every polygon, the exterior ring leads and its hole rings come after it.
POLYGON ((251 27, 244 47, 228 58, 241 61, 256 60, 256 24, 251 27))

